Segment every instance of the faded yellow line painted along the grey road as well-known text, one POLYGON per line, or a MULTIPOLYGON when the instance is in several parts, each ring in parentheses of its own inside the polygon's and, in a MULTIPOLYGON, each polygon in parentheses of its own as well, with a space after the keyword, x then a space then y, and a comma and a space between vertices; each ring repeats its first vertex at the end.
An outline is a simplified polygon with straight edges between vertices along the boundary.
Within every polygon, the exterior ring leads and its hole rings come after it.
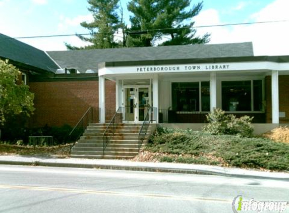
POLYGON ((137 193, 125 193, 125 192, 117 192, 117 191, 84 190, 84 189, 38 187, 38 186, 18 186, 18 185, 0 184, 0 188, 36 190, 36 191, 60 191, 60 192, 81 193, 81 194, 107 194, 107 195, 115 195, 115 196, 173 199, 173 200, 187 200, 187 201, 229 202, 229 203, 232 202, 232 200, 219 199, 219 198, 213 198, 213 197, 184 197, 184 196, 164 195, 164 194, 137 194, 137 193))

